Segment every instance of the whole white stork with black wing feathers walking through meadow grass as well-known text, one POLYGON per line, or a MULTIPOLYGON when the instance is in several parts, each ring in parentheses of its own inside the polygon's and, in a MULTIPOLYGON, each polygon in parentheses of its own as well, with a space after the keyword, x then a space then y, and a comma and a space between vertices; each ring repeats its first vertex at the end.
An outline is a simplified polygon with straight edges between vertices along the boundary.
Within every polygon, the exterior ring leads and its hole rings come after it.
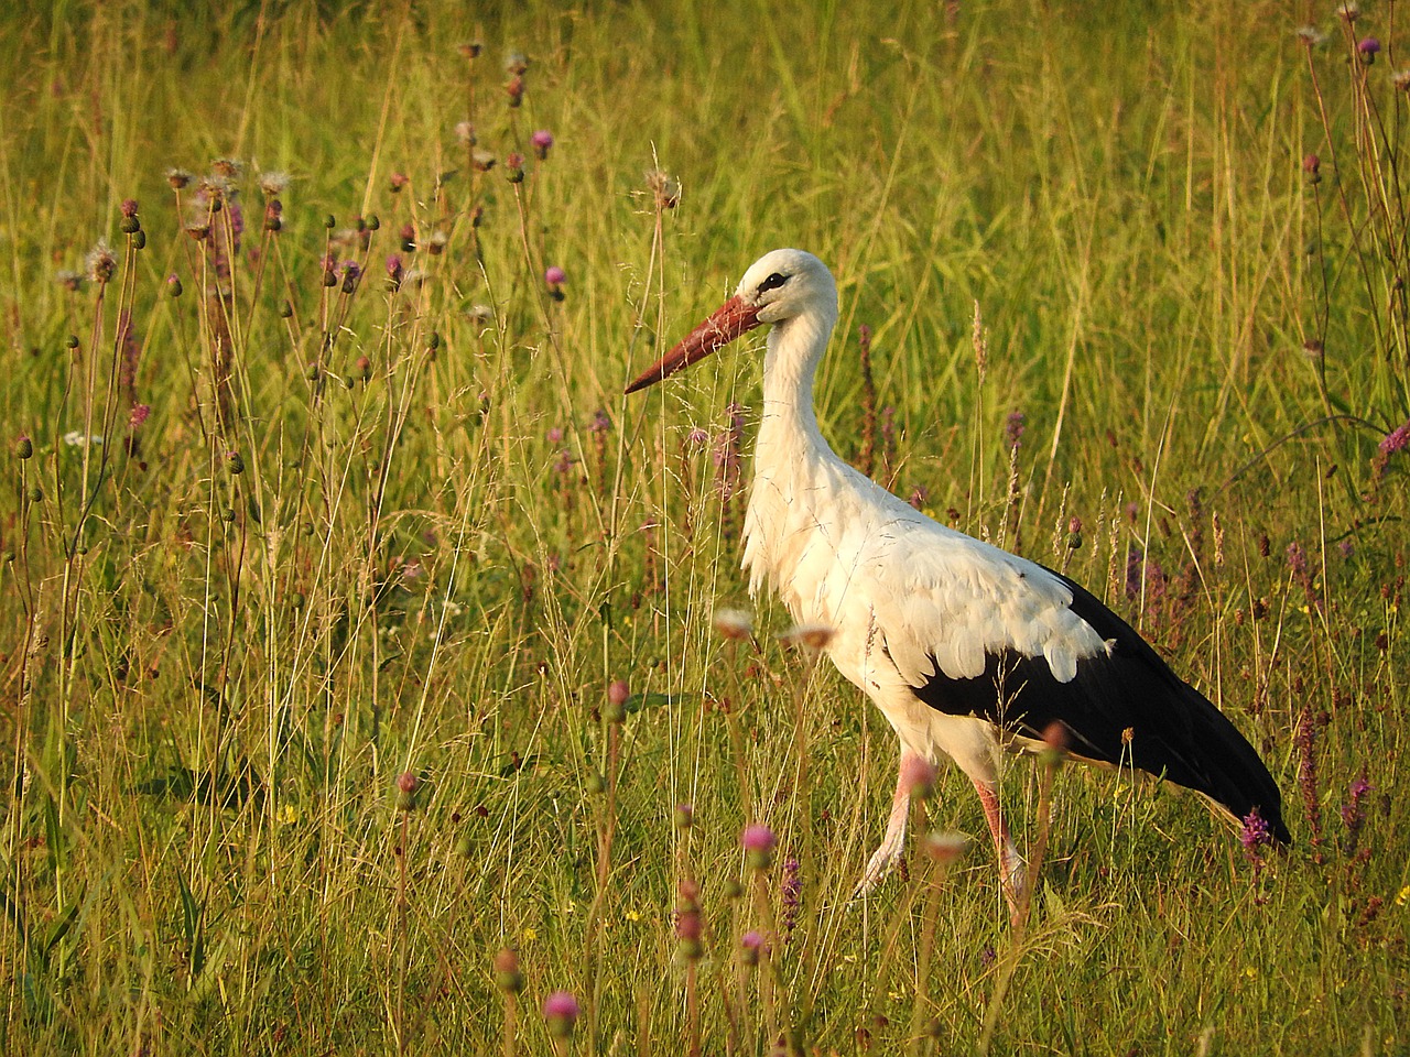
POLYGON ((1055 722, 1073 755, 1163 777, 1235 822, 1256 810, 1287 843, 1258 753, 1129 624, 1066 576, 932 521, 828 447, 812 385, 836 321, 826 265, 774 249, 626 392, 771 326, 744 517, 750 592, 768 583, 794 620, 833 629, 832 662, 901 740, 885 837, 859 891, 901 854, 916 761, 949 757, 979 791, 1017 912, 1026 877, 1000 812, 998 754, 1041 748, 1055 722))

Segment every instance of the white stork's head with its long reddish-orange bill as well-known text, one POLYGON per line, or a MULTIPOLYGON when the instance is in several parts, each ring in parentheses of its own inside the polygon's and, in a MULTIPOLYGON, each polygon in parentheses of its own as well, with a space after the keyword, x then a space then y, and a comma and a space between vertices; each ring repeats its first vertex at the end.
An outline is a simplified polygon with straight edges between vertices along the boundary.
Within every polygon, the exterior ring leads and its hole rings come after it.
POLYGON ((838 317, 838 285, 832 272, 802 249, 767 252, 749 266, 733 297, 712 311, 626 390, 634 393, 646 389, 754 327, 785 324, 799 317, 815 317, 823 331, 832 328, 838 317))

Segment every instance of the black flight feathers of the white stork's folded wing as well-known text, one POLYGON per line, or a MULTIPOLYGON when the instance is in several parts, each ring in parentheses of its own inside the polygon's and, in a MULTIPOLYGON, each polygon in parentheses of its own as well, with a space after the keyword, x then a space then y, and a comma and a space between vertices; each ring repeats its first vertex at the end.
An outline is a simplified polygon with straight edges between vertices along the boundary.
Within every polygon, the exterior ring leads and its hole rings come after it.
POLYGON ((1228 717, 1170 671, 1125 620, 1081 585, 1053 575, 1072 591, 1072 612, 1111 644, 1110 654, 1077 661, 1076 678, 1058 682, 1042 657, 1003 650, 988 654, 984 674, 970 679, 952 679, 936 665, 915 695, 940 712, 977 716, 1028 737, 1042 737, 1059 722, 1074 753, 1134 764, 1196 789, 1235 819, 1256 808, 1273 836, 1289 843, 1277 784, 1228 717))

